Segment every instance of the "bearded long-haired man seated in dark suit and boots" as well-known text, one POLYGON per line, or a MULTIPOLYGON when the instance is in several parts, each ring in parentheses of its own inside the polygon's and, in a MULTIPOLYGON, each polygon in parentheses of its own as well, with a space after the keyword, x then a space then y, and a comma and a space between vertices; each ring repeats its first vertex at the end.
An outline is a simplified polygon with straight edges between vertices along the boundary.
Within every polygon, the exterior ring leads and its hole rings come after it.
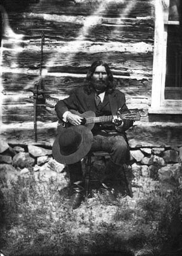
MULTIPOLYGON (((124 93, 114 88, 112 72, 108 65, 98 60, 88 70, 85 84, 70 97, 59 100, 55 107, 58 118, 73 126, 82 124, 83 119, 71 113, 72 109, 80 114, 85 111, 94 111, 96 116, 114 116, 112 122, 94 125, 91 147, 92 151, 106 151, 111 155, 106 166, 106 175, 100 184, 100 191, 107 196, 110 202, 115 199, 111 192, 111 178, 116 170, 122 170, 121 167, 130 158, 125 131, 133 125, 133 121, 122 120, 118 115, 130 113, 125 102, 124 93)), ((84 196, 81 162, 68 165, 68 170, 73 189, 68 206, 75 209, 80 206, 84 196)))

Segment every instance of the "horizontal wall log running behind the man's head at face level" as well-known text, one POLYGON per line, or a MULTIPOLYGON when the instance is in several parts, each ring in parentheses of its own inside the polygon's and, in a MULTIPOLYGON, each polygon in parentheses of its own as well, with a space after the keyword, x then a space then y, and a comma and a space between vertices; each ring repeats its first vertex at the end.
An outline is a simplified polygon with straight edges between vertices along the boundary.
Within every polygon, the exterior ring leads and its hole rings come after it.
MULTIPOLYGON (((25 93, 30 93, 35 86, 35 81, 39 77, 27 76, 22 74, 3 74, 3 93, 4 95, 23 95, 25 93)), ((43 84, 45 91, 49 91, 50 95, 70 95, 70 93, 75 90, 78 86, 82 86, 85 77, 71 77, 71 76, 45 76, 43 79, 43 84)), ((152 75, 149 79, 131 79, 123 77, 114 77, 114 83, 116 88, 123 91, 126 96, 131 97, 151 97, 152 88, 152 75)), ((32 93, 33 96, 33 93, 32 93)))

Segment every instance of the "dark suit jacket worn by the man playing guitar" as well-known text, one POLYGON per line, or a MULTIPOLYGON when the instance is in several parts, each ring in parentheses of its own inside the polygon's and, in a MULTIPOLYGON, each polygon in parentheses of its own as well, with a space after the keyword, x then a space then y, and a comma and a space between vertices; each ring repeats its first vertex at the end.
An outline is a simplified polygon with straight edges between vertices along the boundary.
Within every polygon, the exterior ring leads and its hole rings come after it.
MULTIPOLYGON (((116 112, 119 110, 121 114, 130 113, 128 107, 126 107, 126 100, 124 93, 119 90, 114 90, 111 94, 109 94, 109 103, 111 106, 112 115, 116 115, 116 112)), ((83 90, 83 87, 75 90, 70 97, 65 98, 64 100, 59 100, 58 104, 56 104, 55 110, 59 119, 63 118, 63 114, 70 109, 74 109, 75 111, 80 112, 82 114, 86 111, 94 111, 95 112, 95 98, 94 92, 88 94, 83 90)), ((124 120, 123 132, 128 130, 133 125, 133 121, 124 120)), ((121 130, 121 132, 122 132, 121 130)))

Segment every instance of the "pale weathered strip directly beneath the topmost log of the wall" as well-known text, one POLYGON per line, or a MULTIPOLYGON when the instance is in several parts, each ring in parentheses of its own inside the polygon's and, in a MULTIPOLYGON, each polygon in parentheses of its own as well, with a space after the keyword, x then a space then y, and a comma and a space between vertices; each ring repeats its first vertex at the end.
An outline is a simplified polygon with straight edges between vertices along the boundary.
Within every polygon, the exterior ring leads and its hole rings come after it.
MULTIPOLYGON (((41 23, 42 20, 44 20, 44 24, 42 22, 40 27, 44 27, 45 23, 48 22, 47 25, 52 25, 55 23, 55 25, 64 23, 67 24, 75 24, 75 25, 85 25, 85 27, 94 27, 95 25, 114 25, 119 27, 128 27, 133 25, 145 25, 147 27, 153 27, 154 26, 154 13, 152 16, 146 16, 146 17, 135 17, 135 18, 129 18, 129 17, 107 17, 99 15, 98 13, 94 15, 94 21, 90 22, 88 24, 88 20, 92 18, 92 16, 87 15, 55 15, 54 13, 35 13, 35 12, 23 12, 18 13, 18 17, 16 13, 9 13, 8 20, 15 21, 15 24, 13 24, 13 27, 15 25, 21 24, 22 28, 25 27, 25 24, 23 24, 23 20, 27 20, 27 25, 29 24, 29 21, 31 20, 31 24, 33 25, 34 22, 36 24, 36 27, 38 27, 37 23, 41 23), (17 23, 16 23, 17 22, 17 23)), ((4 18, 5 20, 5 18, 4 18)), ((54 26, 52 26, 52 29, 54 29, 54 26)))

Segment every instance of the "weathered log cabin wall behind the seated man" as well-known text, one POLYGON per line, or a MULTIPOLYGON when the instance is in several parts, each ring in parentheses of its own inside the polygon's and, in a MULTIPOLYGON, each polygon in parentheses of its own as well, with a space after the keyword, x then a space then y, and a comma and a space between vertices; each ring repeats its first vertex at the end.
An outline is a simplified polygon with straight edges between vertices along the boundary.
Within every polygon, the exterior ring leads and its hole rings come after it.
MULTIPOLYGON (((10 144, 35 144, 33 90, 40 79, 41 32, 44 31, 43 84, 51 97, 68 97, 83 84, 97 59, 106 61, 130 109, 140 122, 128 131, 130 145, 169 142, 171 130, 149 122, 154 51, 153 0, 1 1, 1 138, 10 144), (167 141, 166 136, 168 134, 167 141), (155 137, 154 137, 155 135, 155 137)), ((54 107, 38 109, 37 144, 52 145, 54 107)), ((172 127, 173 129, 173 127, 172 127)), ((175 126, 180 133, 180 127, 175 126)), ((174 131, 174 133, 176 130, 174 131)))

